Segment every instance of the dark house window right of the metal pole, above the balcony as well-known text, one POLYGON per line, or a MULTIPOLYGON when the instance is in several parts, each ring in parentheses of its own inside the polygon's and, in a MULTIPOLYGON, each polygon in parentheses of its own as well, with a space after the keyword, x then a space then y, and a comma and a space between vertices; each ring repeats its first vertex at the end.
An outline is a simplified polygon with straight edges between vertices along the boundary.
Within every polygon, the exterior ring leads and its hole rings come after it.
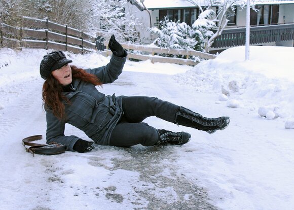
POLYGON ((269 25, 278 23, 279 5, 256 5, 255 12, 251 9, 250 25, 269 25))

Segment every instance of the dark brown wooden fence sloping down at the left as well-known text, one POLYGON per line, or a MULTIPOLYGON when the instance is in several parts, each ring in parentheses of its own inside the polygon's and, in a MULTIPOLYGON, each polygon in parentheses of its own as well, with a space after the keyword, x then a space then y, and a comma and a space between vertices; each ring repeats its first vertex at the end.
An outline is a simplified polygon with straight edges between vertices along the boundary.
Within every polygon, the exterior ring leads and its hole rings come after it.
POLYGON ((22 27, 3 24, 0 47, 40 48, 84 53, 96 49, 95 38, 67 25, 23 17, 22 27))

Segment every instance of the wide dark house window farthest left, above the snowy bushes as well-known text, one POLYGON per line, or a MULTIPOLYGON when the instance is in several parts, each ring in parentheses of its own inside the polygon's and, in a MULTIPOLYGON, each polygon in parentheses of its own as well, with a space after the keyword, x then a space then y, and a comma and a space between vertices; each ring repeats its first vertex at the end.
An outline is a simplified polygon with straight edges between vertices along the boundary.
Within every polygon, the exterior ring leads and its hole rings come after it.
POLYGON ((186 22, 188 25, 192 25, 198 17, 198 9, 187 8, 187 9, 173 9, 173 10, 159 10, 159 21, 163 20, 164 17, 172 21, 186 22))

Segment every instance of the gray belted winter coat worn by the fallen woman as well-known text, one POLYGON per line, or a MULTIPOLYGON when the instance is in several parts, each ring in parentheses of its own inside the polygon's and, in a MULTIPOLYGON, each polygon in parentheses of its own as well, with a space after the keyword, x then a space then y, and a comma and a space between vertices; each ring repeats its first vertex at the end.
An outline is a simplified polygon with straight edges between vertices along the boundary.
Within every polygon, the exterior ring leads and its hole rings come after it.
MULTIPOLYGON (((126 57, 113 55, 107 65, 85 70, 96 75, 104 84, 113 83, 122 73, 125 62, 126 57)), ((96 144, 109 145, 111 132, 123 115, 123 96, 105 96, 93 84, 80 79, 73 79, 72 85, 75 91, 62 93, 70 101, 70 104, 64 102, 65 120, 59 120, 50 109, 46 110, 47 144, 60 143, 73 151, 73 145, 81 138, 64 135, 65 123, 69 123, 84 131, 96 144)))

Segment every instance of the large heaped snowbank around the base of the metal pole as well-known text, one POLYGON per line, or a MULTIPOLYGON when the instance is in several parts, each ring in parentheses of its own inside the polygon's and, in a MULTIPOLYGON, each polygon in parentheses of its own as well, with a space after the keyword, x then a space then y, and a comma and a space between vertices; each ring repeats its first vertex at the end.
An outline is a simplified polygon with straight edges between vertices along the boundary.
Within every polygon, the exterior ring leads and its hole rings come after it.
POLYGON ((294 117, 293 54, 289 47, 250 46, 245 61, 245 47, 230 48, 174 78, 197 92, 216 93, 218 104, 286 121, 294 117))

